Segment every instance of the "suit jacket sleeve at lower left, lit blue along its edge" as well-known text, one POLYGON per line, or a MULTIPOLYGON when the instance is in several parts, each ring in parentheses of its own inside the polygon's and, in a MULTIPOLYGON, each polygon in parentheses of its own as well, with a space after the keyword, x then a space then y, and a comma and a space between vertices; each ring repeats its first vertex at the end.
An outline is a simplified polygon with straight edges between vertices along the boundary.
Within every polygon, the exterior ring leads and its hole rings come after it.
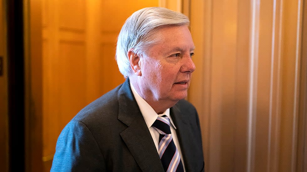
POLYGON ((50 171, 106 171, 99 146, 91 131, 79 120, 62 130, 50 171))

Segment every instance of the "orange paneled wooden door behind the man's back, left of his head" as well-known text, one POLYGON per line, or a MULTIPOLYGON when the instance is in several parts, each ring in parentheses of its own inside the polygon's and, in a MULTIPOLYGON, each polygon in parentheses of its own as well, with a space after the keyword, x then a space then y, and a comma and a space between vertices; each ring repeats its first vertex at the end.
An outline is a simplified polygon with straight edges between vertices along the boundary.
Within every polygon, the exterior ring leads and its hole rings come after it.
POLYGON ((126 18, 158 0, 44 0, 43 161, 49 171, 63 127, 91 101, 124 81, 115 61, 126 18))

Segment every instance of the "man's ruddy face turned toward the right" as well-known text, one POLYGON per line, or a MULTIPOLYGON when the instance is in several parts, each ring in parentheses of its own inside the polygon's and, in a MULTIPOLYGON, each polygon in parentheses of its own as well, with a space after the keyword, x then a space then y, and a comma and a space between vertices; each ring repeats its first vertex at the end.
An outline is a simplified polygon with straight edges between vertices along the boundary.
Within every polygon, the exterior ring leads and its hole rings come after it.
POLYGON ((172 26, 160 29, 155 36, 161 41, 148 48, 140 61, 141 90, 155 101, 184 99, 195 70, 190 31, 187 26, 172 26))

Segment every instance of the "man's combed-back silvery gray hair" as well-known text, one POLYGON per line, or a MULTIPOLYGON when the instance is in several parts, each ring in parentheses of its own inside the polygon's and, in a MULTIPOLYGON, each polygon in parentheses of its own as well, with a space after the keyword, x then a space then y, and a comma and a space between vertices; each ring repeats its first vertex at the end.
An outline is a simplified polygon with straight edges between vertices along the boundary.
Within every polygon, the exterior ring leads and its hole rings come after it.
POLYGON ((129 49, 140 55, 146 49, 160 41, 155 33, 162 27, 188 26, 190 20, 180 12, 174 12, 163 7, 147 7, 134 12, 127 18, 117 37, 116 61, 119 71, 127 78, 131 73, 127 57, 129 49))

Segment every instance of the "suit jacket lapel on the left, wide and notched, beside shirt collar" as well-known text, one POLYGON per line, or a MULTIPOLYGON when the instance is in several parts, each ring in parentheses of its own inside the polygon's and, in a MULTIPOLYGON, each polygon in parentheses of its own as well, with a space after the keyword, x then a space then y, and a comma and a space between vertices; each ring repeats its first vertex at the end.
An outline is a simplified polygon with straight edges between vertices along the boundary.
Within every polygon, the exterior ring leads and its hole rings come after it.
POLYGON ((127 79, 118 93, 118 120, 128 127, 121 137, 142 171, 164 171, 157 149, 127 79))

